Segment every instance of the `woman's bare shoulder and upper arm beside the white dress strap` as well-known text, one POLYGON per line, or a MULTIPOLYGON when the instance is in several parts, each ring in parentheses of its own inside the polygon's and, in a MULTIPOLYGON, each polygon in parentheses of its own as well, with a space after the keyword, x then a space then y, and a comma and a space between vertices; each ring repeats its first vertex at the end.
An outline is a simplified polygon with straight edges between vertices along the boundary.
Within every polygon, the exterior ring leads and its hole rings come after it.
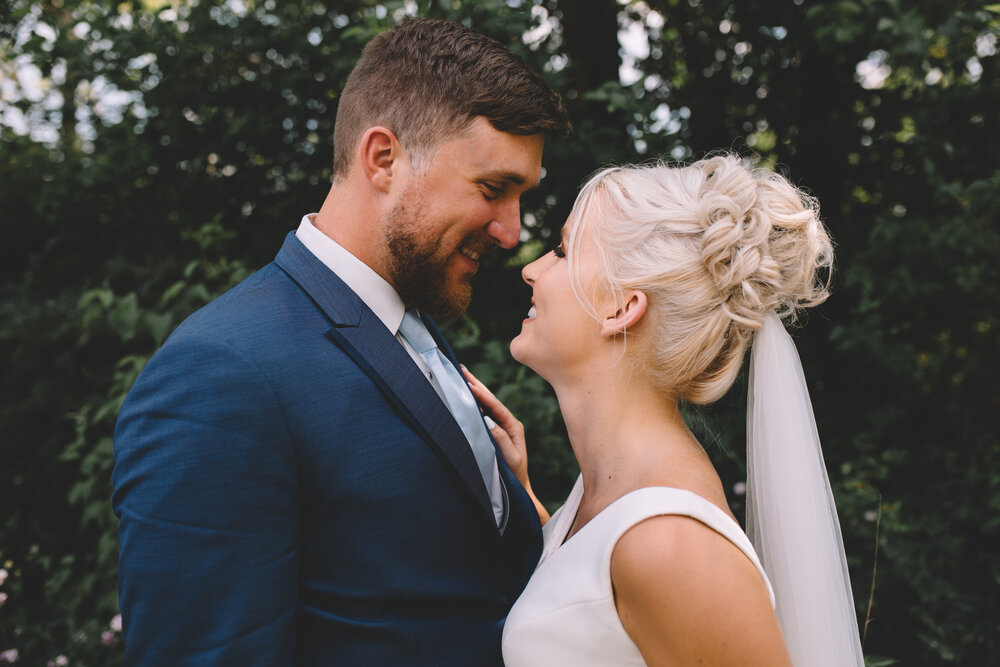
POLYGON ((791 664, 757 568, 696 519, 631 527, 615 545, 611 580, 622 625, 649 665, 791 664))

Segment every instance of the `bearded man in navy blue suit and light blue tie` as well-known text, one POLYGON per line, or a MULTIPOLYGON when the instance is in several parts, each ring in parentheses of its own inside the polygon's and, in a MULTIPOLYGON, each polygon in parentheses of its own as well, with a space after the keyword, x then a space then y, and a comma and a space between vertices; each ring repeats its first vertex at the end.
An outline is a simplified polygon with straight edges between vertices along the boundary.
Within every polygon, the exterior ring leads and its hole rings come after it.
POLYGON ((540 528, 427 316, 463 312, 482 256, 514 247, 543 137, 568 129, 537 73, 461 25, 366 46, 319 213, 122 407, 129 664, 501 664, 540 528))

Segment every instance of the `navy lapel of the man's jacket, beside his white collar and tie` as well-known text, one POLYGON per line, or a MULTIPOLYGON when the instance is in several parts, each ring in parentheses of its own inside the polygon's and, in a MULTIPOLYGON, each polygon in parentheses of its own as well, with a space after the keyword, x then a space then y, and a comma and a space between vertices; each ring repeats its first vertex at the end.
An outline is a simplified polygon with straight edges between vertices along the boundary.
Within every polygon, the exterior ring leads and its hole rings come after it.
MULTIPOLYGON (((291 232, 275 258, 327 315, 333 327, 327 338, 372 379, 434 449, 494 522, 486 486, 455 418, 427 378, 381 320, 291 232)), ((440 332, 432 330, 440 341, 440 332)), ((450 350, 447 352, 450 356, 450 350)))

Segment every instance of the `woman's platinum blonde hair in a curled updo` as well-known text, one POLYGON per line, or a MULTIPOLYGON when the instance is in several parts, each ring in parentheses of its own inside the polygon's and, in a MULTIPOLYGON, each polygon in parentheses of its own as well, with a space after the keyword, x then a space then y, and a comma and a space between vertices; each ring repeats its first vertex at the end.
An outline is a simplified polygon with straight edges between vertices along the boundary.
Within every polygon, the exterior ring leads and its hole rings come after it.
POLYGON ((794 318, 829 293, 821 269, 832 265, 833 249, 816 200, 734 155, 611 167, 587 181, 567 254, 574 291, 596 316, 573 264, 585 229, 603 287, 617 298, 627 289, 648 298, 643 365, 689 403, 729 390, 767 313, 794 318))

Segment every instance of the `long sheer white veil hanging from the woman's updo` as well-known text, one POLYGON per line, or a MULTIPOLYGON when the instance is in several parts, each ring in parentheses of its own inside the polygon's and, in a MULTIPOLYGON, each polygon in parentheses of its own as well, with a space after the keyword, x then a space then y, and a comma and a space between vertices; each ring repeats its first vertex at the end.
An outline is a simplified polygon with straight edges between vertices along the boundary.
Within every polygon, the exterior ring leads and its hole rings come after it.
POLYGON ((773 312, 750 354, 746 524, 774 587, 792 662, 864 665, 809 390, 795 344, 773 312))

